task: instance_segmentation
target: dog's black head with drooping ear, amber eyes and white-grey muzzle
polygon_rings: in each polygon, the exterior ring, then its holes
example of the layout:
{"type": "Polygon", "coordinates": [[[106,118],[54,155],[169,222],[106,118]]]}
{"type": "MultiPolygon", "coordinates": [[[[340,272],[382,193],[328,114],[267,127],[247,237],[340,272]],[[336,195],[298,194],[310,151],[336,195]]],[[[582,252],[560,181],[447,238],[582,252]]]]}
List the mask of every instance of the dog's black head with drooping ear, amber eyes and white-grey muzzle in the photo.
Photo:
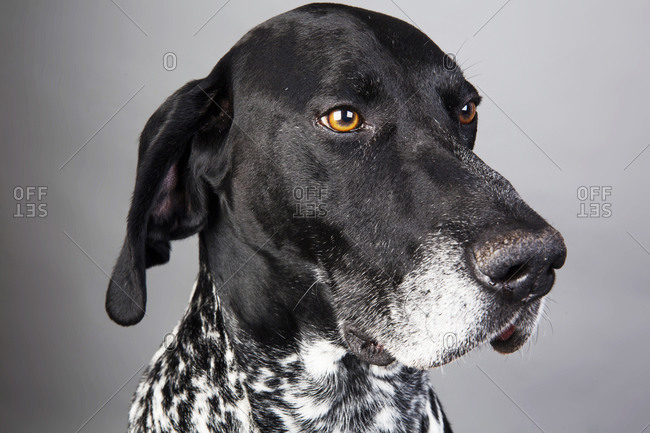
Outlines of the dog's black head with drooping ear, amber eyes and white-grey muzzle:
{"type": "MultiPolygon", "coordinates": [[[[316,4],[256,27],[147,123],[109,315],[142,318],[145,268],[171,240],[228,232],[252,251],[272,238],[259,254],[277,269],[307,263],[329,325],[369,362],[516,350],[566,251],[473,153],[479,102],[397,19],[316,4]]],[[[307,288],[285,280],[274,317],[307,288]]]]}

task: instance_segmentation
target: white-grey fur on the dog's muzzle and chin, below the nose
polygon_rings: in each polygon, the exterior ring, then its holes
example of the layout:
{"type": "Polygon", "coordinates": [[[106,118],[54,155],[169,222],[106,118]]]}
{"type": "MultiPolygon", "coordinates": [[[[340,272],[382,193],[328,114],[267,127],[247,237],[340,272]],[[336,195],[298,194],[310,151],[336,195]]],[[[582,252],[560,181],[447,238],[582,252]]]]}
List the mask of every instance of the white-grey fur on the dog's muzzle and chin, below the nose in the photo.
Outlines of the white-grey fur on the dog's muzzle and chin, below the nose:
{"type": "Polygon", "coordinates": [[[396,290],[390,329],[376,335],[400,363],[420,369],[447,364],[488,341],[511,353],[533,332],[542,301],[528,308],[500,305],[468,271],[462,246],[436,235],[421,247],[419,264],[396,290]],[[507,317],[504,317],[507,316],[507,317]],[[515,332],[504,341],[508,326],[515,332]]]}

